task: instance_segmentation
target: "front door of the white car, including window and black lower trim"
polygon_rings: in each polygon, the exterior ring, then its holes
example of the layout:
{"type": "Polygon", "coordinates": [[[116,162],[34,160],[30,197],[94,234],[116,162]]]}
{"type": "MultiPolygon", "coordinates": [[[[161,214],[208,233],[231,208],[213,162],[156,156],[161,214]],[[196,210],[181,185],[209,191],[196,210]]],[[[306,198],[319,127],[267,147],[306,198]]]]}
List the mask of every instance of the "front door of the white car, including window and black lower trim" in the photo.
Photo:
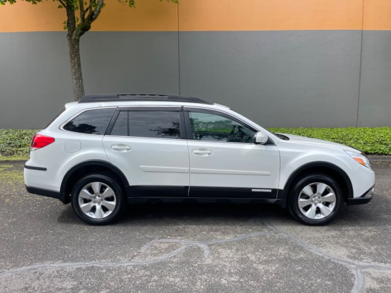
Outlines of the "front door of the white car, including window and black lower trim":
{"type": "Polygon", "coordinates": [[[185,107],[190,124],[190,196],[276,198],[280,155],[270,142],[254,144],[257,132],[235,117],[185,107]]]}

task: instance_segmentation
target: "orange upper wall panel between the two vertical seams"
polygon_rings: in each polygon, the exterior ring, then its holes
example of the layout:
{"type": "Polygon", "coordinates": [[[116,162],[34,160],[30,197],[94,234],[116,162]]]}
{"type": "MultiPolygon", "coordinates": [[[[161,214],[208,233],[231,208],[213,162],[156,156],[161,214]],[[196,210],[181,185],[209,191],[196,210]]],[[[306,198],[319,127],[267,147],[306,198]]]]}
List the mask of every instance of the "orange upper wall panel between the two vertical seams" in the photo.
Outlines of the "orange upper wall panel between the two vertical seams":
{"type": "Polygon", "coordinates": [[[362,8],[362,0],[179,0],[179,30],[358,30],[362,8]]]}

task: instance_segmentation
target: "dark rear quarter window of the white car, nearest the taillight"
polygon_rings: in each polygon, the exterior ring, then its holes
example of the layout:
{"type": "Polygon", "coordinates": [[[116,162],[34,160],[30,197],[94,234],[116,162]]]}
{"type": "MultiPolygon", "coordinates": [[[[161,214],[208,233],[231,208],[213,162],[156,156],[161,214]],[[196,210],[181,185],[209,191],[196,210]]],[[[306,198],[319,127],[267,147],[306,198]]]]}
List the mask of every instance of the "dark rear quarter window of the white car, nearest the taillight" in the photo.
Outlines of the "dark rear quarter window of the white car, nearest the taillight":
{"type": "Polygon", "coordinates": [[[63,128],[79,133],[105,134],[114,110],[115,108],[87,110],[69,121],[63,128]]]}

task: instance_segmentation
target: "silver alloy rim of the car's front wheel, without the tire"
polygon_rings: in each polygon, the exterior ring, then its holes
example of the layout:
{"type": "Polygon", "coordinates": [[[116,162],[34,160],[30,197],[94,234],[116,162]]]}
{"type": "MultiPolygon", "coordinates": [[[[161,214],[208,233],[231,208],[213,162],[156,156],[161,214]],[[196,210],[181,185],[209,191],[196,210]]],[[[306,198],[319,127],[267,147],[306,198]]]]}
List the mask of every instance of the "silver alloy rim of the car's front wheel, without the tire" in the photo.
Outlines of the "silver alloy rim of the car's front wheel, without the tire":
{"type": "Polygon", "coordinates": [[[297,204],[304,216],[318,220],[328,217],[335,209],[337,198],[326,183],[314,182],[300,191],[297,204]]]}

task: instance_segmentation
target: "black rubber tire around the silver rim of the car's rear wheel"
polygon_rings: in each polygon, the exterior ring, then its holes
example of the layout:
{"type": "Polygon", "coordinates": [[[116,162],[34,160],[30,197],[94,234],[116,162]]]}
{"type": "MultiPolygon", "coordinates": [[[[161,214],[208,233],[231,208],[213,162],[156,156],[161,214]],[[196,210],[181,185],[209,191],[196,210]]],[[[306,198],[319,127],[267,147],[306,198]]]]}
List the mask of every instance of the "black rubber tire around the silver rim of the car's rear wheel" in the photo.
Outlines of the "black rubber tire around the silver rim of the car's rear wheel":
{"type": "MultiPolygon", "coordinates": [[[[98,193],[94,193],[92,187],[86,188],[88,189],[94,196],[98,193]],[[89,189],[91,188],[91,189],[89,189]]],[[[109,190],[109,191],[111,191],[109,190]]],[[[96,196],[98,197],[98,196],[96,196]]],[[[121,214],[126,208],[126,198],[123,194],[122,188],[120,185],[115,181],[113,178],[109,176],[109,174],[89,174],[79,181],[76,182],[75,186],[72,188],[72,198],[71,198],[71,205],[76,214],[81,218],[83,221],[90,225],[108,225],[110,223],[113,223],[119,219],[121,214]],[[102,197],[99,195],[99,207],[98,207],[98,198],[96,199],[96,204],[95,204],[95,199],[84,199],[79,197],[80,192],[82,191],[83,188],[88,186],[91,183],[100,183],[99,189],[102,190],[99,191],[100,194],[102,194],[102,197]],[[106,202],[102,200],[104,198],[104,191],[106,191],[107,188],[111,188],[111,190],[114,192],[114,196],[108,197],[106,202]],[[100,199],[102,198],[102,199],[100,199]],[[92,202],[93,201],[93,202],[92,202]],[[90,209],[90,212],[88,212],[89,215],[84,212],[80,205],[83,204],[90,204],[91,206],[93,205],[90,209]],[[112,208],[115,206],[114,208],[112,208]],[[109,210],[107,207],[109,207],[112,210],[109,210]],[[105,213],[108,215],[104,214],[93,214],[97,213],[97,209],[102,209],[102,213],[105,213]],[[98,217],[98,218],[94,218],[98,217]],[[102,217],[100,217],[102,216],[102,217]]],[[[87,207],[89,209],[89,206],[87,207]]]]}

